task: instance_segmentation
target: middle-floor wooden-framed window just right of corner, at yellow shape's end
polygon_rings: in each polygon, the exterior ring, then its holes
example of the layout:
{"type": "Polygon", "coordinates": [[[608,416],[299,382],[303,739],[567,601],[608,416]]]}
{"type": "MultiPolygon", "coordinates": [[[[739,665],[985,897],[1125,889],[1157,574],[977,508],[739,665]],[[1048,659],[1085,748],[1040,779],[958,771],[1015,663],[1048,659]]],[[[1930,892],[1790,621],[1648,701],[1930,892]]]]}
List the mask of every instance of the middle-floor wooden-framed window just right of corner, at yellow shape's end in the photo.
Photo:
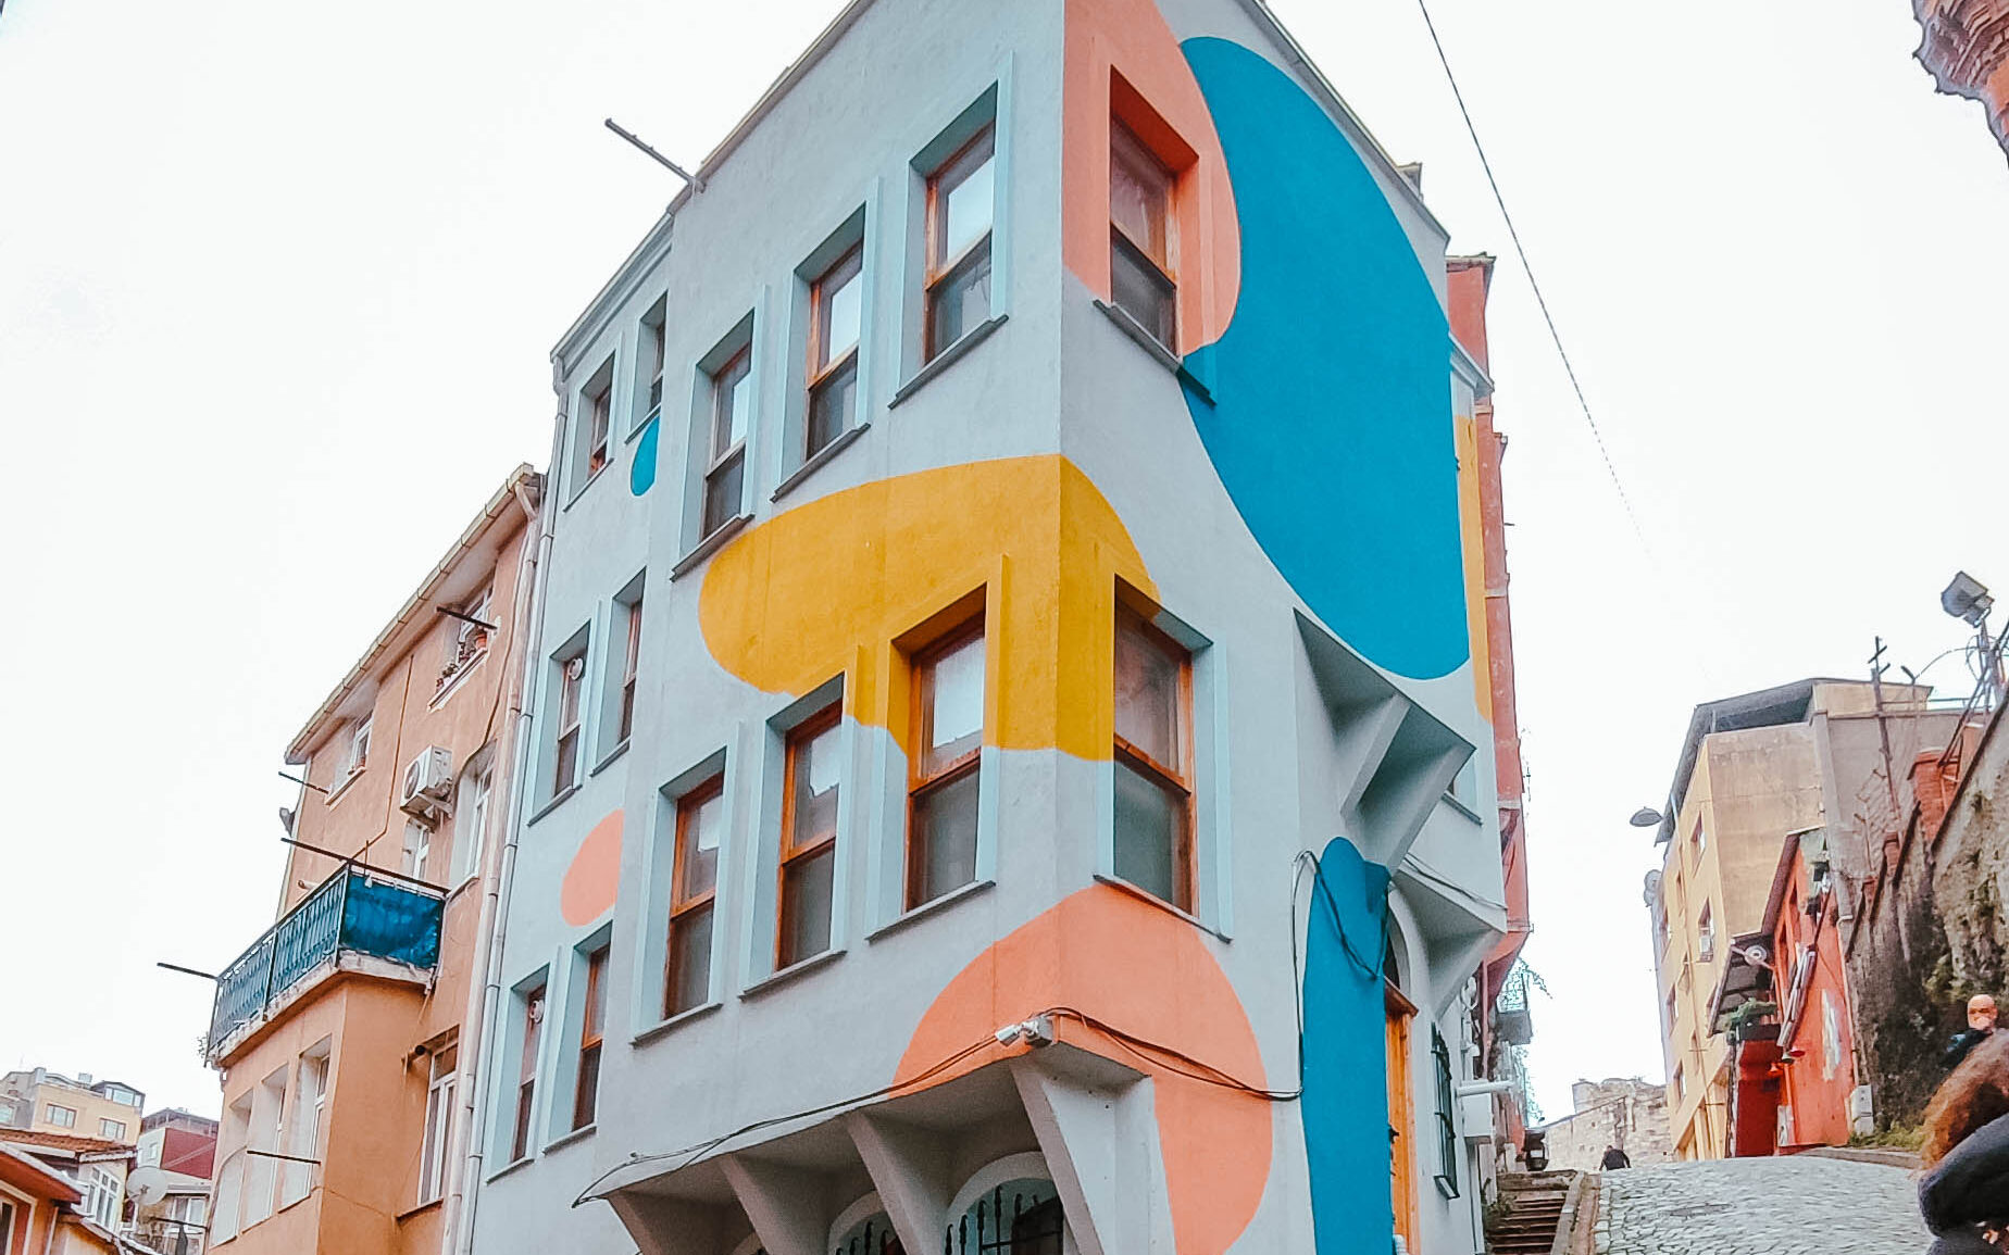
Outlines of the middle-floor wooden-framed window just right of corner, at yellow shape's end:
{"type": "Polygon", "coordinates": [[[1191,665],[1171,637],[1117,610],[1115,873],[1193,910],[1191,665]]]}

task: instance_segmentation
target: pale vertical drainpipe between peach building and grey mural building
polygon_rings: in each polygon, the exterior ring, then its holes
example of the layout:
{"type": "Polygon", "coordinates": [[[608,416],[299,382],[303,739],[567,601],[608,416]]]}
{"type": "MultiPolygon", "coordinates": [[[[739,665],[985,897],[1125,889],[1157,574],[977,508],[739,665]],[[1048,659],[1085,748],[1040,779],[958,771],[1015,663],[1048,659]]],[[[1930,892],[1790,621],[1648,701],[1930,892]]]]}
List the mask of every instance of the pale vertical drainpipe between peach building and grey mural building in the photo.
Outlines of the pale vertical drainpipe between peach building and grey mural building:
{"type": "MultiPolygon", "coordinates": [[[[552,365],[556,371],[556,363],[552,365]]],[[[556,384],[556,380],[554,380],[556,384]]],[[[516,564],[516,588],[520,606],[514,624],[516,641],[522,641],[522,665],[510,677],[516,685],[516,727],[510,735],[508,757],[508,805],[504,807],[502,819],[502,843],[500,849],[488,855],[490,863],[484,869],[482,884],[482,926],[476,932],[476,946],[480,938],[488,940],[486,952],[482,954],[480,968],[474,980],[468,982],[468,1010],[462,1018],[460,1028],[460,1126],[466,1131],[460,1181],[454,1185],[454,1193],[446,1201],[446,1243],[448,1249],[460,1251],[460,1255],[470,1255],[474,1249],[474,1209],[480,1203],[482,1189],[482,1143],[488,1135],[486,1120],[482,1114],[488,1104],[482,1102],[482,1066],[486,1058],[486,1042],[490,1028],[496,1020],[496,1008],[502,1000],[502,940],[508,928],[508,896],[510,884],[516,875],[516,831],[522,819],[522,797],[530,775],[530,745],[532,745],[532,725],[534,725],[534,685],[536,675],[536,651],[544,635],[544,570],[550,562],[550,536],[556,522],[556,510],[550,508],[550,476],[559,470],[559,450],[565,440],[565,406],[561,402],[559,414],[552,420],[550,434],[550,468],[544,474],[544,488],[540,500],[532,506],[522,488],[516,490],[516,502],[524,510],[524,522],[538,522],[536,544],[524,544],[522,558],[516,564]],[[524,584],[528,580],[528,584],[524,584]],[[522,588],[530,590],[530,596],[520,594],[522,588]]],[[[498,755],[500,757],[500,755],[498,755]]],[[[492,841],[484,841],[484,847],[494,847],[492,841]]],[[[444,1251],[442,1251],[444,1255],[444,1251]]]]}

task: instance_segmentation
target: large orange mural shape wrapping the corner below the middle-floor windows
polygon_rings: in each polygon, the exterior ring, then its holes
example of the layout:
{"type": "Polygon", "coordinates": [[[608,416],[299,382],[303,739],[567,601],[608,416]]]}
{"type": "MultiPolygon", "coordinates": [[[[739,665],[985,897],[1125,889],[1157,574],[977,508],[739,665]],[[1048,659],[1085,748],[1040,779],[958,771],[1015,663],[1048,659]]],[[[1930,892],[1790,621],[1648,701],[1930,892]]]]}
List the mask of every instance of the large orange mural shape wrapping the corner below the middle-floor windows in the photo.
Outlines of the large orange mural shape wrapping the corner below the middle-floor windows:
{"type": "MultiPolygon", "coordinates": [[[[1065,898],[956,974],[914,1028],[894,1080],[920,1078],[998,1024],[1051,1008],[1087,1012],[1246,1084],[1264,1084],[1256,1030],[1201,934],[1109,886],[1065,898]]],[[[1270,1102],[1183,1076],[1147,1050],[1133,1052],[1075,1020],[1063,1018],[1057,1028],[1069,1044],[1151,1074],[1175,1245],[1181,1255],[1227,1251],[1270,1181],[1270,1102]]],[[[926,1076],[924,1086],[1017,1052],[1023,1046],[990,1046],[926,1076]]]]}

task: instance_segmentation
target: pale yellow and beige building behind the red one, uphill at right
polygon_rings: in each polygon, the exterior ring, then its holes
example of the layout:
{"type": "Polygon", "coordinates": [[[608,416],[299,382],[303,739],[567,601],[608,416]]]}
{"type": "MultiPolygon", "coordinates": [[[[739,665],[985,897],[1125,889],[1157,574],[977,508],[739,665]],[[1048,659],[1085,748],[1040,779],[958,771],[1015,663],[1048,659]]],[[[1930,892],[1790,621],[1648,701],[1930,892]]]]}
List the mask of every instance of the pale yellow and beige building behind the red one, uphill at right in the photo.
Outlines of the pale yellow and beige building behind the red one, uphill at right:
{"type": "Polygon", "coordinates": [[[1766,932],[1780,843],[1820,827],[1836,877],[1860,884],[1868,833],[1884,831],[1901,805],[1892,775],[1959,721],[1929,695],[1882,685],[1878,701],[1868,683],[1808,679],[1696,707],[1659,829],[1661,867],[1647,875],[1680,1159],[1730,1151],[1736,1042],[1712,1006],[1732,942],[1766,932]]]}

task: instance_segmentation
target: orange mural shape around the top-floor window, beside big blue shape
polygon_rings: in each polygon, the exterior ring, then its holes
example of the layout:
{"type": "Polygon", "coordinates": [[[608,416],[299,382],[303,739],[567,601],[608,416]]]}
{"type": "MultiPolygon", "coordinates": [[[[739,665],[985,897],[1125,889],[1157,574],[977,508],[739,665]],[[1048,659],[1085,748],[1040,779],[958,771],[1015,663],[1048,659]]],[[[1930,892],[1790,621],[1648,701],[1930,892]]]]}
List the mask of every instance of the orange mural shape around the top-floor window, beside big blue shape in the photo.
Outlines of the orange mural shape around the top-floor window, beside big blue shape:
{"type": "Polygon", "coordinates": [[[1067,0],[1063,239],[1067,269],[1101,299],[1109,277],[1109,122],[1173,173],[1177,351],[1221,337],[1242,295],[1242,229],[1227,157],[1179,38],[1155,0],[1067,0]]]}

